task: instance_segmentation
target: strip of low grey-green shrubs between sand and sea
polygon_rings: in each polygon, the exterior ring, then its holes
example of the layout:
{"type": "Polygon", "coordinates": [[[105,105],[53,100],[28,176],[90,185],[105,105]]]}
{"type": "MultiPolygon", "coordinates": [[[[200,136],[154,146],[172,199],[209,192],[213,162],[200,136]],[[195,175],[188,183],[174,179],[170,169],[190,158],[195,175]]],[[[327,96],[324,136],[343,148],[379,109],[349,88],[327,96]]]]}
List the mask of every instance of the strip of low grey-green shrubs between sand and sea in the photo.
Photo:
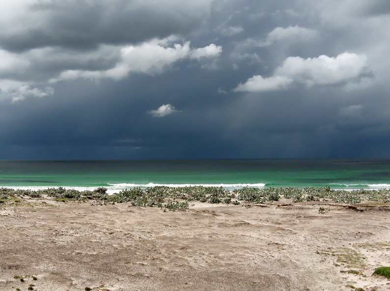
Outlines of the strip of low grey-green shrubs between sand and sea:
{"type": "MultiPolygon", "coordinates": [[[[39,198],[43,195],[54,197],[57,201],[95,201],[102,204],[129,203],[133,206],[152,207],[158,206],[165,211],[188,209],[190,202],[198,201],[211,204],[265,204],[279,201],[279,199],[291,199],[293,203],[305,201],[324,201],[342,204],[359,204],[362,201],[390,202],[390,189],[379,190],[334,190],[326,187],[306,188],[255,188],[243,187],[232,191],[223,187],[167,187],[154,186],[147,188],[134,187],[125,189],[119,193],[109,195],[107,188],[99,187],[94,191],[78,191],[63,187],[49,188],[45,190],[14,190],[0,188],[0,200],[7,200],[28,196],[39,198]]],[[[320,211],[322,212],[322,211],[320,211]]]]}

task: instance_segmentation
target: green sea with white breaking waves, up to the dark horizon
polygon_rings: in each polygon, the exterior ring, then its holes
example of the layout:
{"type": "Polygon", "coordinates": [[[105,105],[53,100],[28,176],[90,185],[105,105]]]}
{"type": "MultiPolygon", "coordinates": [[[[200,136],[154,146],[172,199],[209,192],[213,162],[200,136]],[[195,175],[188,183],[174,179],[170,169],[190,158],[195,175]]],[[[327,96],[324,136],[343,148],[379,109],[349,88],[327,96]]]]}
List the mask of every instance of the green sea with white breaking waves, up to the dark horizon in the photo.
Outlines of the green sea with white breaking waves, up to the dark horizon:
{"type": "Polygon", "coordinates": [[[0,161],[0,187],[223,186],[390,188],[389,159],[0,161]]]}

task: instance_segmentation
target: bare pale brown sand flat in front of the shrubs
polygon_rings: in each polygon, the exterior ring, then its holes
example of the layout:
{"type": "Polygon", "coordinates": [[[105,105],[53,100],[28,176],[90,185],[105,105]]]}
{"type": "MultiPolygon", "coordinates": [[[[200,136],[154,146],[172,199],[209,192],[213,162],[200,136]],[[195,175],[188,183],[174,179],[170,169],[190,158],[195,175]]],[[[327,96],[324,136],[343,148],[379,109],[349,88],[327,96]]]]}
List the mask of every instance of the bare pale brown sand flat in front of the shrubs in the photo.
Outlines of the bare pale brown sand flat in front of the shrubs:
{"type": "Polygon", "coordinates": [[[390,290],[388,205],[285,203],[0,205],[0,290],[390,290]]]}

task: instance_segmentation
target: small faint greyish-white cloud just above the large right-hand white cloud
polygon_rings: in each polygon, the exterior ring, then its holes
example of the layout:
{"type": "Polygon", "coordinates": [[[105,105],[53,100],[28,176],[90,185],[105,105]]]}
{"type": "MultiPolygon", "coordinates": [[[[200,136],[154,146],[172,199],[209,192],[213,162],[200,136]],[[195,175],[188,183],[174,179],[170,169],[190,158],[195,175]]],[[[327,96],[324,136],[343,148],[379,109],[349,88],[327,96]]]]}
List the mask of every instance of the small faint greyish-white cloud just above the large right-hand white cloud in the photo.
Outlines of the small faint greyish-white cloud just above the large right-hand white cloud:
{"type": "Polygon", "coordinates": [[[281,40],[308,40],[318,36],[318,32],[314,29],[306,29],[299,26],[289,26],[287,28],[277,27],[268,33],[267,38],[260,46],[270,46],[281,40]]]}

